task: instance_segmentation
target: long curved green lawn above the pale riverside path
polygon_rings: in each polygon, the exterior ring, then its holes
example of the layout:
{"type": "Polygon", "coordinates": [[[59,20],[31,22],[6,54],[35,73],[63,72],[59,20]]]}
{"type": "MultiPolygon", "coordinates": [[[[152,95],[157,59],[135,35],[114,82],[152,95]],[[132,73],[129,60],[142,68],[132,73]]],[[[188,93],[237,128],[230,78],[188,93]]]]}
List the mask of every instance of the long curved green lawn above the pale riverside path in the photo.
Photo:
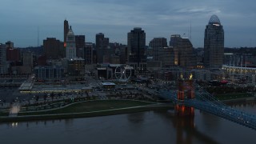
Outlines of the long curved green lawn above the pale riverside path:
{"type": "Polygon", "coordinates": [[[44,112],[30,112],[30,113],[18,113],[18,115],[42,115],[42,114],[69,114],[69,113],[81,113],[98,110],[113,110],[118,108],[132,107],[132,106],[144,106],[149,105],[150,102],[138,102],[130,100],[98,100],[75,103],[70,106],[66,106],[58,110],[50,110],[44,112]]]}

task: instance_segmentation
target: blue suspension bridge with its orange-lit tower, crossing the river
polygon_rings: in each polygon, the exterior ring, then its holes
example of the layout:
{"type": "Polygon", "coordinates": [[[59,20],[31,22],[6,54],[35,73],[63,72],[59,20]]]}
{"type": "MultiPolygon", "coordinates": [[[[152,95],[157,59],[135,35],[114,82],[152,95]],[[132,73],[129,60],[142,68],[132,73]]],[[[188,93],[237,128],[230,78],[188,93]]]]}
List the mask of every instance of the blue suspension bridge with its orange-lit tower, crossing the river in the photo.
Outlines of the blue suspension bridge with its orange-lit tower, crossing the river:
{"type": "Polygon", "coordinates": [[[194,116],[195,108],[256,130],[256,115],[227,106],[193,81],[179,81],[178,90],[160,90],[158,95],[174,102],[178,115],[194,116]]]}

